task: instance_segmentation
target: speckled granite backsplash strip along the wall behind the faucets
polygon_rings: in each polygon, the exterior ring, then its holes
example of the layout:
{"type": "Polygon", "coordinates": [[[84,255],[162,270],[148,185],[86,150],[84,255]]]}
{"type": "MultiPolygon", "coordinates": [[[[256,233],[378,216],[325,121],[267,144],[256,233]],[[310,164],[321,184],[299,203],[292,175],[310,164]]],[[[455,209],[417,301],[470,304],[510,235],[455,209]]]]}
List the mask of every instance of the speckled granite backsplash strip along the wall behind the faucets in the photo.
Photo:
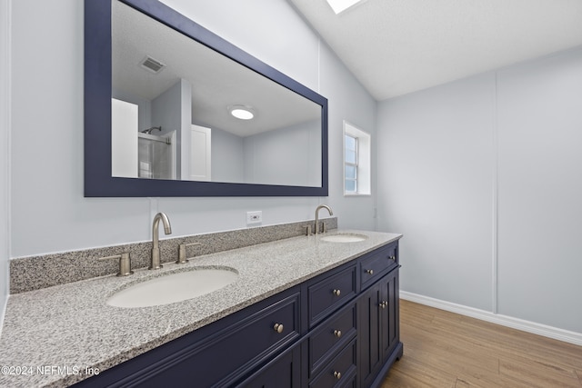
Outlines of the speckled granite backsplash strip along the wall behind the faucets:
{"type": "MultiPolygon", "coordinates": [[[[328,230],[337,228],[337,218],[322,219],[328,230]]],[[[188,256],[214,254],[243,246],[267,243],[306,234],[306,224],[315,220],[289,224],[259,226],[210,234],[172,237],[164,235],[160,228],[160,259],[172,263],[177,259],[178,245],[201,243],[188,247],[188,256]]],[[[10,293],[25,293],[57,284],[77,282],[107,274],[116,274],[119,264],[115,260],[99,261],[100,257],[129,253],[132,268],[149,266],[152,242],[123,244],[82,251],[44,254],[10,260],[10,293]]]]}

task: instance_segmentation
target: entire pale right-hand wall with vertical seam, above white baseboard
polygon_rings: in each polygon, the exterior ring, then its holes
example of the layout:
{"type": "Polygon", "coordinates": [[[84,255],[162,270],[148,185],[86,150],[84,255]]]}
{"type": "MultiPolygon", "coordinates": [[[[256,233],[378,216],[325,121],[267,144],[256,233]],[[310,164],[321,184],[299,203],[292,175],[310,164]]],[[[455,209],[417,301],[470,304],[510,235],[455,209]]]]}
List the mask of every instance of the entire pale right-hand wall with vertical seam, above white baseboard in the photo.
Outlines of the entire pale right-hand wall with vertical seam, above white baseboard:
{"type": "Polygon", "coordinates": [[[378,106],[401,289],[582,333],[582,49],[378,106]]]}

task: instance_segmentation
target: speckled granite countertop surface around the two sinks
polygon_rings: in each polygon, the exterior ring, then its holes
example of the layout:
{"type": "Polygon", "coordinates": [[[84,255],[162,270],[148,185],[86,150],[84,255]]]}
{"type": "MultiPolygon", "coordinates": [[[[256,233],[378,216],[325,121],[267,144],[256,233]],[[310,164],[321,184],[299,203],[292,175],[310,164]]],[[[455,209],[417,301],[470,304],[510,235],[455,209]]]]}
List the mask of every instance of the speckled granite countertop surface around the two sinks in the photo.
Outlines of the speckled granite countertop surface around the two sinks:
{"type": "Polygon", "coordinates": [[[230,313],[344,264],[401,234],[365,234],[355,243],[300,236],[135,270],[18,293],[8,298],[0,336],[0,386],[64,386],[84,380],[230,313]],[[227,287],[183,302],[120,308],[105,303],[128,284],[194,267],[228,267],[238,278],[227,287]]]}

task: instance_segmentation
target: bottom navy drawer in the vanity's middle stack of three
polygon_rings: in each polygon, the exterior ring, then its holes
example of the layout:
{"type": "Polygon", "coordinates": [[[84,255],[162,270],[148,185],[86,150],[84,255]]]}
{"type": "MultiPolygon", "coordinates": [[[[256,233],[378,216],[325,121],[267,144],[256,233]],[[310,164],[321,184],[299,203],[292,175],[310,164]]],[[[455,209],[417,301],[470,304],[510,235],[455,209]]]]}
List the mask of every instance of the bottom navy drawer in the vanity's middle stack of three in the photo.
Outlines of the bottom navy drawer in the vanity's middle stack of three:
{"type": "Polygon", "coordinates": [[[321,373],[309,383],[309,388],[331,388],[353,385],[356,374],[357,346],[356,339],[328,363],[321,373]]]}

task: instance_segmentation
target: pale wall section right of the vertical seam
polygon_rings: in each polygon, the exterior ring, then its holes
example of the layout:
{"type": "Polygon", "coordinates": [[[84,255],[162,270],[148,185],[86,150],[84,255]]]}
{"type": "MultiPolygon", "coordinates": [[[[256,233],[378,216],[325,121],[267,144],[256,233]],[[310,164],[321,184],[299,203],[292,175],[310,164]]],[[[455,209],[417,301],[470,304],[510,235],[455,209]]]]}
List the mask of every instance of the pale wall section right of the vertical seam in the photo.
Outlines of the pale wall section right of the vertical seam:
{"type": "Polygon", "coordinates": [[[582,333],[582,49],[497,75],[499,313],[582,333]]]}

